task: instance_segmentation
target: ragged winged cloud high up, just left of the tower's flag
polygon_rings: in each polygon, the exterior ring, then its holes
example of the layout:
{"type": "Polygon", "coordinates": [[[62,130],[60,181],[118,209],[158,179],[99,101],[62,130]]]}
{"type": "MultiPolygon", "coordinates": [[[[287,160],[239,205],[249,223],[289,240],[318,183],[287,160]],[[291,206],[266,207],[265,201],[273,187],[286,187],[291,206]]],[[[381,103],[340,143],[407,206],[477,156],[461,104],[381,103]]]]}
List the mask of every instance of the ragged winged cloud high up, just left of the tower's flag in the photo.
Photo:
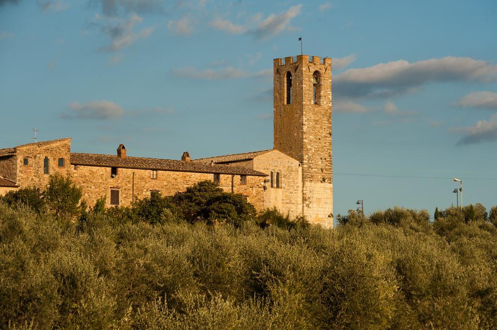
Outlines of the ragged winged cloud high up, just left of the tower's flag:
{"type": "Polygon", "coordinates": [[[209,22],[209,26],[230,34],[247,33],[257,39],[267,39],[284,30],[291,29],[290,20],[300,14],[301,8],[302,5],[298,4],[279,15],[271,13],[262,21],[262,14],[257,13],[250,17],[245,24],[236,24],[227,19],[216,18],[209,22]]]}

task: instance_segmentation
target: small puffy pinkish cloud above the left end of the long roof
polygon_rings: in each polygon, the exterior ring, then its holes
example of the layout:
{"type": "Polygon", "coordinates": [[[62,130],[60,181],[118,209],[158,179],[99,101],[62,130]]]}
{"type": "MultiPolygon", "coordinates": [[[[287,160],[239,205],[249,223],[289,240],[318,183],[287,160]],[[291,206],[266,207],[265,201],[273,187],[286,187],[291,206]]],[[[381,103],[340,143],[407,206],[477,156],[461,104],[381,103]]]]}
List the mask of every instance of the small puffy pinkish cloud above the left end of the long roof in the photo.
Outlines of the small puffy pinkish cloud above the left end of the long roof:
{"type": "Polygon", "coordinates": [[[113,119],[121,117],[124,113],[123,108],[107,100],[95,100],[85,104],[72,102],[69,107],[72,112],[64,115],[66,118],[113,119]]]}

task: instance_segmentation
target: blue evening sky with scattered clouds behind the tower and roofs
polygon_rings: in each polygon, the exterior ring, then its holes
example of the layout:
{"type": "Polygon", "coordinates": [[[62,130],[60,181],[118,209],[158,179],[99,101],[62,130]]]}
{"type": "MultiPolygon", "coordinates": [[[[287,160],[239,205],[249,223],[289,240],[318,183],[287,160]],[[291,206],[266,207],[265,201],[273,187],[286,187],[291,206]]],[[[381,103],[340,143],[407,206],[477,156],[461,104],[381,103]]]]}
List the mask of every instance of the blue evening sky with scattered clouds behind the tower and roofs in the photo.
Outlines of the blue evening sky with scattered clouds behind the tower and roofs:
{"type": "Polygon", "coordinates": [[[0,148],[272,147],[272,59],[333,58],[334,213],[497,204],[497,2],[0,0],[0,148]]]}

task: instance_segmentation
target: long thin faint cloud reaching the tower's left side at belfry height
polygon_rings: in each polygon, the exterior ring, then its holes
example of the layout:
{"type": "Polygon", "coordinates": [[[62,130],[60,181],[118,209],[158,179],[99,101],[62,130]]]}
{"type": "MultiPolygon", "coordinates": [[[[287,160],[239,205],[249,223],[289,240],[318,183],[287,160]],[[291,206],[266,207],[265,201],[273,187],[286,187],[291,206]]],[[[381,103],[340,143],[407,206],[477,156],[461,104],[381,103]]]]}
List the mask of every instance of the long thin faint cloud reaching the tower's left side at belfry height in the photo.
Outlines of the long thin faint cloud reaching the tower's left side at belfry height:
{"type": "Polygon", "coordinates": [[[178,69],[172,69],[171,74],[179,78],[200,79],[200,80],[219,80],[219,79],[234,79],[247,77],[265,77],[271,76],[273,70],[266,69],[257,72],[246,72],[242,69],[227,66],[220,69],[204,69],[198,70],[194,67],[187,66],[178,69]]]}

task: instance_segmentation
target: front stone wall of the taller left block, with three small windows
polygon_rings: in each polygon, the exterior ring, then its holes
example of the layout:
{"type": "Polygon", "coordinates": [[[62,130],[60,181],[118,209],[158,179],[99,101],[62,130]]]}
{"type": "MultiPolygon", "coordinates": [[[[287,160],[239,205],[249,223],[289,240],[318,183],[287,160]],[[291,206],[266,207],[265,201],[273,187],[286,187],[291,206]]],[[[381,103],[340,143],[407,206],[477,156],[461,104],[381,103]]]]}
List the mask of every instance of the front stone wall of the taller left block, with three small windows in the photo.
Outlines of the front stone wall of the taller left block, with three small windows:
{"type": "Polygon", "coordinates": [[[71,139],[63,139],[50,144],[28,144],[16,148],[17,185],[44,189],[50,174],[66,175],[71,172],[71,139]],[[23,165],[23,159],[28,165],[23,165]],[[43,173],[43,160],[49,159],[49,174],[43,173]],[[64,167],[58,167],[58,159],[64,158],[64,167]]]}

